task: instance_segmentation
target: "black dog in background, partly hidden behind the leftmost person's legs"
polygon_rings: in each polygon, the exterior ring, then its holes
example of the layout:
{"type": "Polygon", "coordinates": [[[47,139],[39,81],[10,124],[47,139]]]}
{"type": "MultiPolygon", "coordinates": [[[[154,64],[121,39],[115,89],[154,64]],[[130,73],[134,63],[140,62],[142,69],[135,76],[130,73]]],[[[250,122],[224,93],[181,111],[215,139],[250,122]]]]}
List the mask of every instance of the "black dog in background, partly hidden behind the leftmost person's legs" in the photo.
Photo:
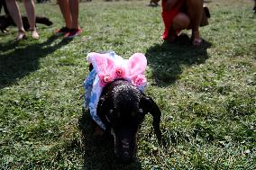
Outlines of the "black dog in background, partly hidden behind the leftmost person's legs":
{"type": "MultiPolygon", "coordinates": [[[[23,27],[24,27],[25,31],[28,31],[30,28],[30,23],[28,21],[28,18],[26,16],[22,16],[22,20],[23,20],[23,27]]],[[[50,20],[48,18],[41,17],[41,16],[36,16],[35,22],[45,24],[47,26],[52,25],[52,22],[50,22],[50,20]]],[[[15,23],[10,15],[1,15],[0,16],[0,30],[1,31],[5,32],[6,28],[11,25],[15,26],[15,23]]]]}

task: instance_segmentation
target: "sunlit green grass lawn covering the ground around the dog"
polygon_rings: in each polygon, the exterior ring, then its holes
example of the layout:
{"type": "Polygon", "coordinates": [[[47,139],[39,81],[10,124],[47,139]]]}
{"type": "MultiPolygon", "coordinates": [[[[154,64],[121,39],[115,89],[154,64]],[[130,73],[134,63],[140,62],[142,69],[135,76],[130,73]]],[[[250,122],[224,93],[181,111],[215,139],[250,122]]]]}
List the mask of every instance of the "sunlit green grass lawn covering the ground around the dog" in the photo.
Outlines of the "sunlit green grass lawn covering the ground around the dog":
{"type": "Polygon", "coordinates": [[[253,2],[207,1],[212,18],[200,30],[201,49],[189,45],[190,31],[163,43],[160,6],[148,4],[81,3],[84,32],[74,40],[52,37],[63,24],[55,2],[36,4],[54,22],[38,25],[39,40],[15,44],[14,27],[0,33],[0,169],[256,169],[253,2]],[[145,53],[145,93],[162,112],[167,146],[158,145],[147,116],[131,165],[116,163],[113,139],[92,135],[82,107],[87,53],[105,50],[145,53]]]}

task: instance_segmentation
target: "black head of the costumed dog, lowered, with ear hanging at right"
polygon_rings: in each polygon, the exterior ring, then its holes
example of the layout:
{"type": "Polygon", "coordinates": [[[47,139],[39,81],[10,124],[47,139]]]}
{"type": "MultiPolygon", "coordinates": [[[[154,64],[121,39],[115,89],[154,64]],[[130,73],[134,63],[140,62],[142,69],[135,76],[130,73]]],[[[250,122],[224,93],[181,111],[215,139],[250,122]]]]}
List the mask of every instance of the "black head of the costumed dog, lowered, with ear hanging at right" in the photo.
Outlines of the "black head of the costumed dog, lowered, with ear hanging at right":
{"type": "Polygon", "coordinates": [[[114,135],[114,153],[123,163],[135,157],[137,131],[145,114],[153,116],[153,127],[160,140],[160,109],[150,97],[126,80],[106,85],[97,106],[97,114],[106,130],[114,135]]]}

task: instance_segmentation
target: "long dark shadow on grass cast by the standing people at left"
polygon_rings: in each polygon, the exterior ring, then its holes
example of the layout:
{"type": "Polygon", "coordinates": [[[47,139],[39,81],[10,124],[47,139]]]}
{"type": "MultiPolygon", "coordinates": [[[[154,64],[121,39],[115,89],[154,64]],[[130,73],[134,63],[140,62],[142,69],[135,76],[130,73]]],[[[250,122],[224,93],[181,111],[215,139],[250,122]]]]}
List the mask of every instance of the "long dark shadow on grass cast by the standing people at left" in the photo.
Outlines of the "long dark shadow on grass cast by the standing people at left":
{"type": "Polygon", "coordinates": [[[51,36],[44,42],[35,42],[29,45],[26,45],[27,40],[0,44],[0,89],[14,85],[20,78],[37,70],[40,67],[40,58],[46,57],[70,42],[70,40],[63,39],[52,45],[57,38],[51,36]],[[10,52],[8,52],[9,50],[10,52]]]}

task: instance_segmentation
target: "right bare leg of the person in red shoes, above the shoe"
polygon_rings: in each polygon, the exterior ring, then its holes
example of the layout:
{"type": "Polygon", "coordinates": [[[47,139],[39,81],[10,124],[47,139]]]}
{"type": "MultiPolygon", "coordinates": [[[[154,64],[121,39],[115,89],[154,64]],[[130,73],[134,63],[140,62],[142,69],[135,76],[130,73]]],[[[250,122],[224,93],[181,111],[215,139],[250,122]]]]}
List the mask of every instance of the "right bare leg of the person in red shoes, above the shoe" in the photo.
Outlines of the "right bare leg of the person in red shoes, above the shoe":
{"type": "Polygon", "coordinates": [[[79,0],[69,0],[69,10],[72,17],[72,29],[78,29],[79,0]]]}

